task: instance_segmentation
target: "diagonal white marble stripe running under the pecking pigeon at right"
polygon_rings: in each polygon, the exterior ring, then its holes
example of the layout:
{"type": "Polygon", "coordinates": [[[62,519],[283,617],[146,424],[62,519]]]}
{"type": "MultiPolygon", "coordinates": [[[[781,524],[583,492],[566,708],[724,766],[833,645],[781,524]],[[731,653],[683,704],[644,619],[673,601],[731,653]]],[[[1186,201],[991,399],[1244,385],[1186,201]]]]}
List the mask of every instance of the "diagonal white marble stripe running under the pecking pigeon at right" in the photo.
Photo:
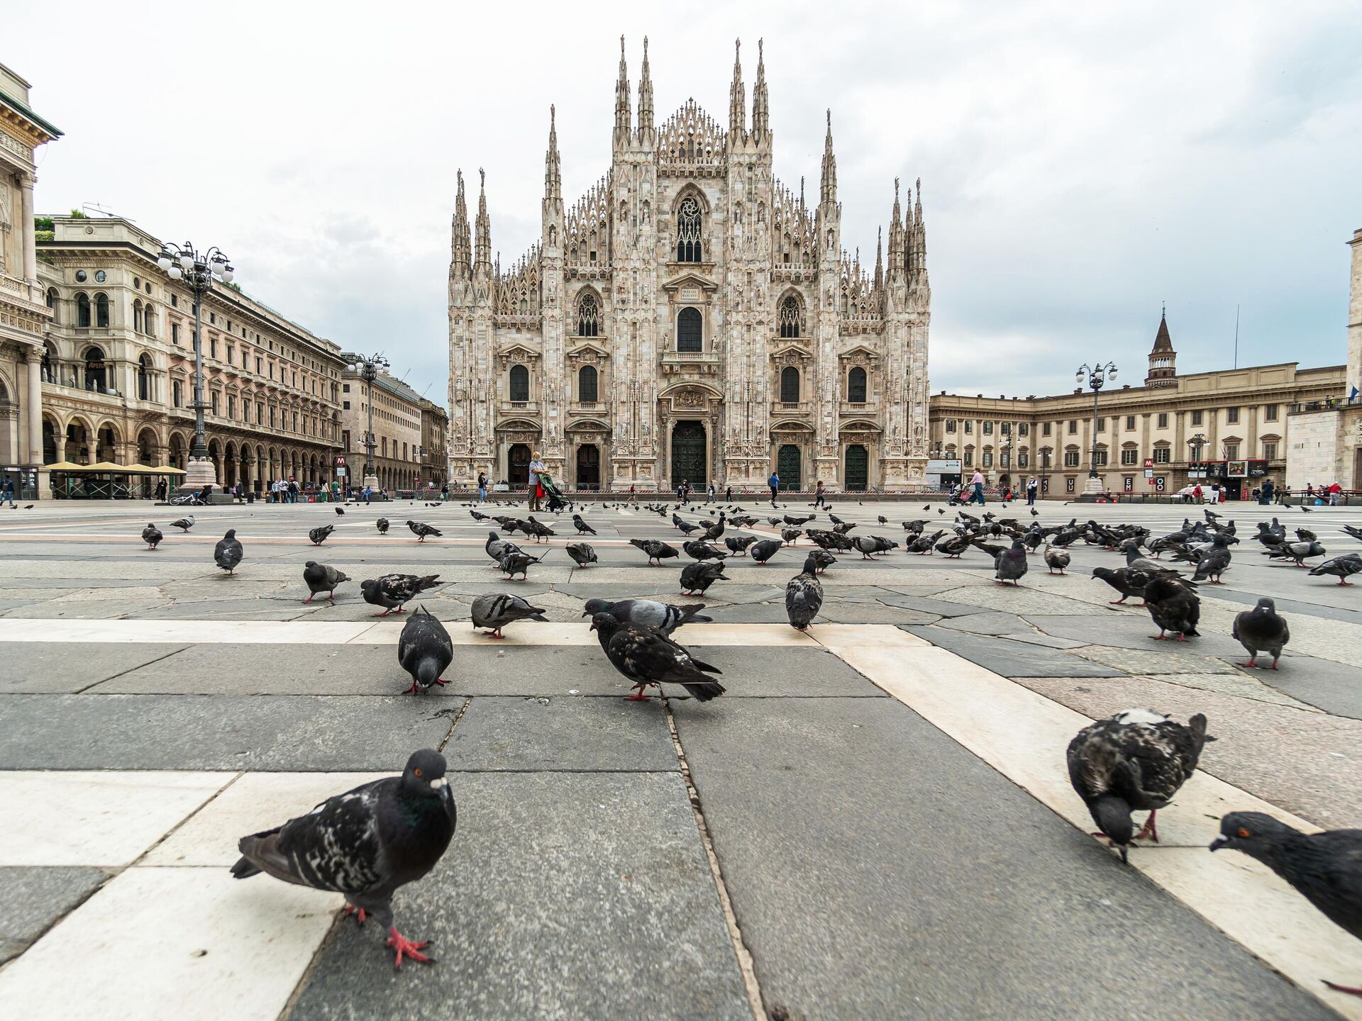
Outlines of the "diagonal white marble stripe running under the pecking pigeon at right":
{"type": "MultiPolygon", "coordinates": [[[[1090,722],[1087,716],[953,652],[899,641],[888,632],[874,643],[859,640],[851,629],[843,634],[816,629],[814,637],[1056,814],[1083,832],[1094,829],[1069,785],[1064,758],[1069,741],[1090,722]]],[[[1211,732],[1216,732],[1215,720],[1211,732]]],[[[1233,734],[1219,736],[1234,739],[1233,734]]],[[[1348,983],[1357,976],[1357,941],[1265,866],[1246,855],[1208,849],[1220,817],[1231,810],[1267,811],[1298,829],[1317,830],[1199,771],[1177,800],[1159,811],[1163,844],[1141,843],[1130,851],[1130,867],[1348,1021],[1362,1021],[1362,999],[1321,983],[1325,977],[1348,983]]]]}

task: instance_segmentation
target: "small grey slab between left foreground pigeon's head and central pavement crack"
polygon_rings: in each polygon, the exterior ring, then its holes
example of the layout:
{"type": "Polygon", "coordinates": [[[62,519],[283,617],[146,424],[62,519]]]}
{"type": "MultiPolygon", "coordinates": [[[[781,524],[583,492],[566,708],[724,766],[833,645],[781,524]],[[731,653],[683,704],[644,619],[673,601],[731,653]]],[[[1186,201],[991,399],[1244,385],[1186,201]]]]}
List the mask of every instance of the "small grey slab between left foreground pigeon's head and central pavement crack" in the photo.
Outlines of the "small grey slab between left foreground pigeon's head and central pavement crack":
{"type": "Polygon", "coordinates": [[[677,769],[656,700],[478,697],[445,746],[451,769],[648,772],[677,769]]]}

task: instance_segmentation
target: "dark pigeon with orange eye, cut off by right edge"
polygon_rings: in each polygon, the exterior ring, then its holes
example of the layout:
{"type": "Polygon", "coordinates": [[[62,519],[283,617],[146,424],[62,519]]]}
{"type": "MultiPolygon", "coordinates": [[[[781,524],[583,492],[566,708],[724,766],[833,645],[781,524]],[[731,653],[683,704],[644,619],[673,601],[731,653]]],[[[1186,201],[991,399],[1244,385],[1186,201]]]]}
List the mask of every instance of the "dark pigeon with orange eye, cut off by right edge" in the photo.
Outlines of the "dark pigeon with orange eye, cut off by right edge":
{"type": "MultiPolygon", "coordinates": [[[[1263,862],[1329,922],[1362,939],[1362,829],[1301,833],[1261,811],[1231,811],[1211,841],[1212,851],[1224,848],[1263,862]]],[[[1362,987],[1324,984],[1362,996],[1362,987]]]]}

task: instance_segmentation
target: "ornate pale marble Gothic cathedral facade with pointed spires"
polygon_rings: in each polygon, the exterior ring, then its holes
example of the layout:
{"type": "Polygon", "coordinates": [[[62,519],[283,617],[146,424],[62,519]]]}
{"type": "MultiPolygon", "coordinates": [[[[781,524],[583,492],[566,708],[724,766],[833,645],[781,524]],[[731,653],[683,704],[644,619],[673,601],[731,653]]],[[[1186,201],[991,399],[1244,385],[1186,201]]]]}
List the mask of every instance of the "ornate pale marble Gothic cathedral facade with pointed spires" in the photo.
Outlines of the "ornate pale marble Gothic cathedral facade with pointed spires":
{"type": "MultiPolygon", "coordinates": [[[[539,241],[492,259],[486,178],[459,174],[449,261],[449,476],[522,486],[530,456],[576,489],[906,490],[928,456],[930,287],[921,185],[893,187],[874,268],[843,248],[832,123],[817,204],[772,167],[759,54],[746,116],[637,116],[620,44],[609,172],[563,200],[550,109],[539,241]]],[[[481,174],[482,172],[479,172],[481,174]]]]}

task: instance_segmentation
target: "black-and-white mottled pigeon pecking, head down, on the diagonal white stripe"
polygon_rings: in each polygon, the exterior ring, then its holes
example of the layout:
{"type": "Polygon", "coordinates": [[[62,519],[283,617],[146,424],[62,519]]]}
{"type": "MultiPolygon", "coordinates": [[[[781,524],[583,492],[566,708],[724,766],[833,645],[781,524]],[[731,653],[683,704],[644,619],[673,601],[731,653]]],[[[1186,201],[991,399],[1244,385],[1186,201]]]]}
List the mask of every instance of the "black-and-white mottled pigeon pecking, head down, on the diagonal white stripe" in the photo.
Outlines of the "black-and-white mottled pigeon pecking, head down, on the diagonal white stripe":
{"type": "Polygon", "coordinates": [[[1080,730],[1066,751],[1069,783],[1098,824],[1094,836],[1120,847],[1122,862],[1132,839],[1158,843],[1154,815],[1192,776],[1208,741],[1215,738],[1201,713],[1182,726],[1154,709],[1124,709],[1080,730]],[[1150,818],[1132,837],[1135,810],[1148,810],[1150,818]]]}

